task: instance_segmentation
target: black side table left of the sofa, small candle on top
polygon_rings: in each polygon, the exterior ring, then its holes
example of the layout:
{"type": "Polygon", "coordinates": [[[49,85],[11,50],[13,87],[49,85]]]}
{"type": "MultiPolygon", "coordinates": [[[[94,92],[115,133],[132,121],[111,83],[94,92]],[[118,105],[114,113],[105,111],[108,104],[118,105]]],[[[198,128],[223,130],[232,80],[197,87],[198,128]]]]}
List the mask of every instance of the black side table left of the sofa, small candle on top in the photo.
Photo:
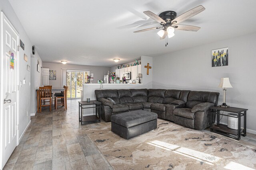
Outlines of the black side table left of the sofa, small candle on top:
{"type": "Polygon", "coordinates": [[[100,122],[100,113],[98,113],[98,109],[100,110],[100,102],[97,102],[96,100],[91,100],[90,102],[86,101],[80,101],[79,104],[79,122],[81,122],[81,125],[91,124],[91,123],[99,123],[100,122]],[[82,107],[82,106],[88,106],[88,105],[95,105],[92,107],[82,107]],[[95,108],[95,115],[90,116],[82,116],[82,109],[89,109],[89,108],[95,108]]]}

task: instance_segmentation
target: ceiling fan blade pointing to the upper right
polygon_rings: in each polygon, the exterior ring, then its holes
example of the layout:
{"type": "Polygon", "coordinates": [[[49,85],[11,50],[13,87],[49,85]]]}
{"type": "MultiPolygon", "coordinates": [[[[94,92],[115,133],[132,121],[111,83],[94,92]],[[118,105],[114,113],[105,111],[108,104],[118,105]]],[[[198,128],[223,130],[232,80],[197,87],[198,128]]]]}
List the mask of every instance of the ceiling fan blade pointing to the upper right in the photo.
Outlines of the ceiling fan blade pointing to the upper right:
{"type": "Polygon", "coordinates": [[[196,8],[193,8],[193,9],[183,13],[180,16],[178,16],[177,18],[175,18],[174,20],[172,20],[172,24],[176,24],[176,23],[180,23],[182,21],[188,20],[188,18],[191,18],[204,10],[205,10],[205,8],[202,5],[197,6],[196,8]]]}

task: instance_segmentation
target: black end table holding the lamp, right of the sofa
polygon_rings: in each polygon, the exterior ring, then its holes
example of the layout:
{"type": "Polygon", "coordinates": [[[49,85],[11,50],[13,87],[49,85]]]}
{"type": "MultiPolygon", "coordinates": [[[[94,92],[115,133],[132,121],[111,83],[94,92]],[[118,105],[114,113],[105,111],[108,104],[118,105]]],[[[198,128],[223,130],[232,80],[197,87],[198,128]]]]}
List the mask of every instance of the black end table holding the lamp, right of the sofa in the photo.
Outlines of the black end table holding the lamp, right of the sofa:
{"type": "Polygon", "coordinates": [[[212,109],[210,116],[211,120],[213,120],[213,117],[217,115],[217,124],[213,125],[213,122],[211,121],[211,132],[218,133],[220,135],[224,135],[236,140],[241,139],[241,134],[245,137],[246,136],[246,111],[248,109],[242,109],[237,107],[210,107],[212,109]],[[228,113],[220,113],[220,111],[230,112],[230,113],[236,113],[236,115],[228,115],[228,113]],[[243,113],[242,113],[243,112],[243,113]],[[236,129],[230,129],[227,125],[220,124],[220,115],[222,116],[228,116],[228,117],[235,117],[238,118],[238,130],[236,129]],[[244,128],[241,129],[241,117],[244,117],[244,128]],[[234,136],[236,137],[234,137],[234,136]]]}

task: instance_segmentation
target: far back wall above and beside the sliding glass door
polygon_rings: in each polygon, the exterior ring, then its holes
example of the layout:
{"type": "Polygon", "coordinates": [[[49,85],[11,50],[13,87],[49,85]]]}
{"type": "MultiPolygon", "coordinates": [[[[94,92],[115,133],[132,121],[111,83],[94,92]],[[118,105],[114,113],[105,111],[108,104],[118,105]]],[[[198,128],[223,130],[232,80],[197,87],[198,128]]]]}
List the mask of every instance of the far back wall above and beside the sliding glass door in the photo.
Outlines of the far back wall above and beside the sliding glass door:
{"type": "Polygon", "coordinates": [[[43,68],[49,68],[50,70],[56,70],[56,80],[49,80],[49,85],[53,87],[61,87],[61,68],[73,68],[73,69],[88,69],[90,73],[94,74],[92,83],[97,83],[97,80],[104,80],[104,75],[108,74],[110,67],[104,66],[86,66],[75,64],[57,64],[57,63],[43,63],[43,68]]]}

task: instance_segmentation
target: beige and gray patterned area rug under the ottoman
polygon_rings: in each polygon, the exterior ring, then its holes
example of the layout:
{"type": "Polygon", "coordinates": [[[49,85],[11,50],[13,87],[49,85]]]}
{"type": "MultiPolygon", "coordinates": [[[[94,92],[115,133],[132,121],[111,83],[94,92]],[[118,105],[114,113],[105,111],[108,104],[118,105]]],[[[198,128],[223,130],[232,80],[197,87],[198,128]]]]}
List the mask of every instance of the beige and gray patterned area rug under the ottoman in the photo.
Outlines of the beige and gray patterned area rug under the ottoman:
{"type": "Polygon", "coordinates": [[[158,127],[126,140],[111,125],[86,133],[116,170],[254,169],[256,150],[158,119],[158,127]]]}

